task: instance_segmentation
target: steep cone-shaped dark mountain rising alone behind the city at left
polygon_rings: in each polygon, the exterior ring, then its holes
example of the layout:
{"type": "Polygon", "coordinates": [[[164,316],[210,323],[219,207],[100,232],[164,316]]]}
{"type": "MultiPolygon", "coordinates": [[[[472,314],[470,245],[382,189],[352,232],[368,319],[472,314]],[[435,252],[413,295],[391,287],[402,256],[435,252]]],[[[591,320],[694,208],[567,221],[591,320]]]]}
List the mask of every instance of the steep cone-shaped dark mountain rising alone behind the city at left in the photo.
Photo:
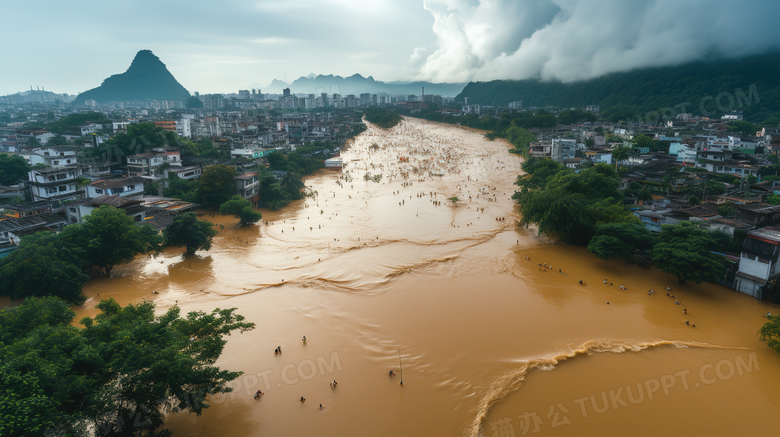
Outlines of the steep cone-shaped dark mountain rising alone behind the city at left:
{"type": "Polygon", "coordinates": [[[141,50],[135,55],[127,71],[115,74],[104,80],[99,87],[79,94],[74,103],[84,103],[88,99],[105,103],[184,100],[188,97],[189,91],[176,81],[160,58],[151,50],[141,50]]]}

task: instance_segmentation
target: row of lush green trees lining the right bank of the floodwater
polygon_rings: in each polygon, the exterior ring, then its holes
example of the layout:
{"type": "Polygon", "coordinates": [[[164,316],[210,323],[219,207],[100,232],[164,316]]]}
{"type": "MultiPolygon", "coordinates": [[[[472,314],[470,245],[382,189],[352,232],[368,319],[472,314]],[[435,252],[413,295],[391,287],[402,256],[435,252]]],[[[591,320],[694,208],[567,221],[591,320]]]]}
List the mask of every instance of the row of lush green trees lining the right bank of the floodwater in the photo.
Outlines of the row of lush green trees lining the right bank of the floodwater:
{"type": "Polygon", "coordinates": [[[709,232],[693,223],[665,225],[651,236],[641,221],[624,206],[617,171],[598,164],[579,173],[549,159],[523,163],[525,174],[516,184],[521,225],[536,225],[539,232],[569,244],[587,246],[602,259],[631,261],[636,252],[649,251],[662,271],[680,282],[717,281],[726,273],[726,261],[713,252],[739,248],[722,232],[709,232]]]}

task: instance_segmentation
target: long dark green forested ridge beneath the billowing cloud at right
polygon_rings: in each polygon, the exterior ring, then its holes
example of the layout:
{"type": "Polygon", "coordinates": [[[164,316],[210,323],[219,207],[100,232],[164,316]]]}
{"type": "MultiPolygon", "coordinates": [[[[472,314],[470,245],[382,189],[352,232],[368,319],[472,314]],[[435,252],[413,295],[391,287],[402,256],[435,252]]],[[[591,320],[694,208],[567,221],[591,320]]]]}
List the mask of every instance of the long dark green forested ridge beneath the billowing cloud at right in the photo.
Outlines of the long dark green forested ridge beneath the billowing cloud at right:
{"type": "Polygon", "coordinates": [[[463,102],[466,97],[469,104],[499,106],[522,100],[524,108],[599,105],[602,116],[610,121],[676,107],[675,113],[697,115],[740,110],[746,119],[760,122],[780,113],[780,53],[647,68],[574,83],[538,79],[471,82],[456,100],[463,102]],[[740,98],[740,93],[748,99],[740,98]],[[716,104],[719,95],[720,104],[716,104]]]}

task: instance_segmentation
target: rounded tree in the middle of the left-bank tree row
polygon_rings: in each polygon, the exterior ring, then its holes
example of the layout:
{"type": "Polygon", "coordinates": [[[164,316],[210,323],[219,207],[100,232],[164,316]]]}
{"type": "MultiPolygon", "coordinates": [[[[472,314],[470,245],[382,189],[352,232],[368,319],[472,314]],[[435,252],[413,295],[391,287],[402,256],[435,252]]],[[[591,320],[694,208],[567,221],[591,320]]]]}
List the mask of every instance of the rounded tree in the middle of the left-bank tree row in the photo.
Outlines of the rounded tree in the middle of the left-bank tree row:
{"type": "MultiPolygon", "coordinates": [[[[156,233],[142,232],[132,217],[123,210],[103,205],[95,208],[84,218],[84,224],[74,231],[82,234],[86,245],[86,259],[90,264],[101,266],[106,275],[116,264],[132,261],[139,253],[146,253],[157,247],[157,241],[149,241],[156,233]]],[[[149,225],[144,225],[149,226],[149,225]]],[[[76,237],[78,238],[78,237],[76,237]]]]}

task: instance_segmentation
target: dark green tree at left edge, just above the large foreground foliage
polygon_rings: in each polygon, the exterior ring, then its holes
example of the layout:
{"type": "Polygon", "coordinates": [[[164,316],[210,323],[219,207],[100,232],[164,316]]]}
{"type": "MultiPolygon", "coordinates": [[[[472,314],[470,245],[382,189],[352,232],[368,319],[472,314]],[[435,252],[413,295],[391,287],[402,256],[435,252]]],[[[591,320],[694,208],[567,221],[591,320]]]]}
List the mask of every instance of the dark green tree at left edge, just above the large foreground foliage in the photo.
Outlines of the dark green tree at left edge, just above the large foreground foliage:
{"type": "Polygon", "coordinates": [[[79,255],[49,232],[24,237],[19,248],[0,262],[0,296],[11,300],[57,296],[83,304],[82,287],[89,276],[81,271],[79,255]]]}

